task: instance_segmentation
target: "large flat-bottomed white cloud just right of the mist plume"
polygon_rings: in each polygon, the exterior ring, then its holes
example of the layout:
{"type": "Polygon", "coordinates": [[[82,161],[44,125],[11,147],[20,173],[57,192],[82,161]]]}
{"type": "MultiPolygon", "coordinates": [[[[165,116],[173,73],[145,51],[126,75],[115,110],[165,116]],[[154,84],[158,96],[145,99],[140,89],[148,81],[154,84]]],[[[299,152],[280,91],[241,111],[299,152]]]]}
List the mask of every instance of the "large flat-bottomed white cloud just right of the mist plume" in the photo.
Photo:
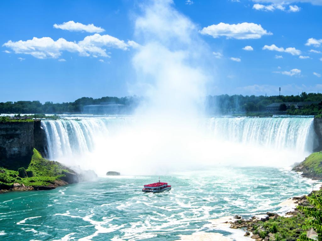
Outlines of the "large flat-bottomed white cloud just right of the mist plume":
{"type": "Polygon", "coordinates": [[[230,39],[260,39],[263,35],[272,35],[266,31],[260,24],[243,22],[238,24],[219,23],[204,27],[202,34],[208,34],[213,38],[225,36],[230,39]]]}

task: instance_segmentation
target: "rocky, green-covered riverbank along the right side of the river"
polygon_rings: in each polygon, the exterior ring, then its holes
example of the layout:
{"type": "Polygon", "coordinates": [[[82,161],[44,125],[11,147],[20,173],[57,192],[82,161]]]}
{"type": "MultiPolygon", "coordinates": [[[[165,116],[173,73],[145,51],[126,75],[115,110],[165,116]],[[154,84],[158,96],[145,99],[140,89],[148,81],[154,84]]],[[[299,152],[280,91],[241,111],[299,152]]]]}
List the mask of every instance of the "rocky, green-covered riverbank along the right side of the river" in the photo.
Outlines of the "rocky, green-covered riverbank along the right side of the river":
{"type": "MultiPolygon", "coordinates": [[[[321,180],[322,152],[312,153],[292,170],[301,172],[302,176],[312,180],[321,180]]],[[[322,187],[310,192],[308,195],[293,197],[292,199],[282,202],[280,206],[288,206],[291,209],[291,211],[288,211],[285,214],[267,212],[264,215],[253,216],[250,219],[243,219],[241,216],[237,215],[231,220],[225,220],[225,223],[229,224],[232,229],[243,230],[244,237],[250,237],[256,241],[296,241],[300,235],[313,237],[315,235],[313,229],[302,229],[302,226],[307,225],[311,219],[297,209],[297,206],[310,205],[306,196],[310,196],[312,193],[317,197],[321,197],[322,187]]],[[[212,221],[210,220],[210,222],[212,221]]]]}

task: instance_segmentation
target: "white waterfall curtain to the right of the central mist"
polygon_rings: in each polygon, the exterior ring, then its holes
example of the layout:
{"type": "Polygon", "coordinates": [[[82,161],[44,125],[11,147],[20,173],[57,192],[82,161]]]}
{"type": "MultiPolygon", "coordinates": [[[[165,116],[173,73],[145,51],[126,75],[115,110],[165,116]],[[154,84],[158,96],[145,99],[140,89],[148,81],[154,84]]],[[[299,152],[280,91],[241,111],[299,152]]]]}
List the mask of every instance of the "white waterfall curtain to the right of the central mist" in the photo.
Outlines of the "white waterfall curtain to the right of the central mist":
{"type": "Polygon", "coordinates": [[[275,149],[312,152],[315,144],[313,118],[306,117],[210,118],[207,129],[223,140],[275,149]]]}

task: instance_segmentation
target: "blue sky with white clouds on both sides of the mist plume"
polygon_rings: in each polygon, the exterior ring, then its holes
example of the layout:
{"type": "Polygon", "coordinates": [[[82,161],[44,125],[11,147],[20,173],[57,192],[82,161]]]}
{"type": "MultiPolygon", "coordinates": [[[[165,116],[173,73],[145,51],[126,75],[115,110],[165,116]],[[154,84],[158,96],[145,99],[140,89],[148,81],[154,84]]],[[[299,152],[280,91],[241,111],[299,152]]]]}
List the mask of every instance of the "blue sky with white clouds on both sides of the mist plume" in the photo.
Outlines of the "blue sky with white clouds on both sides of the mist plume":
{"type": "MultiPolygon", "coordinates": [[[[141,94],[130,86],[140,78],[133,58],[144,40],[135,26],[145,4],[1,2],[0,101],[141,94]]],[[[206,45],[206,94],[322,92],[322,0],[168,4],[206,45]]]]}

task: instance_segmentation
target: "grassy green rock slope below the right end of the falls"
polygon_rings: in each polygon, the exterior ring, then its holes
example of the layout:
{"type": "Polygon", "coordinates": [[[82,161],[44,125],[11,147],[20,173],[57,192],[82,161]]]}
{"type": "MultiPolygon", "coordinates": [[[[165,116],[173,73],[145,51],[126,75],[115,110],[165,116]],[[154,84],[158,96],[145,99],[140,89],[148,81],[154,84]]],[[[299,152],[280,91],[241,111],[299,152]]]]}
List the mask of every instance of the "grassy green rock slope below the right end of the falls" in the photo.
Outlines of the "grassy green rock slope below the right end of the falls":
{"type": "Polygon", "coordinates": [[[305,177],[322,180],[322,152],[312,153],[293,170],[303,172],[302,175],[305,177]]]}

